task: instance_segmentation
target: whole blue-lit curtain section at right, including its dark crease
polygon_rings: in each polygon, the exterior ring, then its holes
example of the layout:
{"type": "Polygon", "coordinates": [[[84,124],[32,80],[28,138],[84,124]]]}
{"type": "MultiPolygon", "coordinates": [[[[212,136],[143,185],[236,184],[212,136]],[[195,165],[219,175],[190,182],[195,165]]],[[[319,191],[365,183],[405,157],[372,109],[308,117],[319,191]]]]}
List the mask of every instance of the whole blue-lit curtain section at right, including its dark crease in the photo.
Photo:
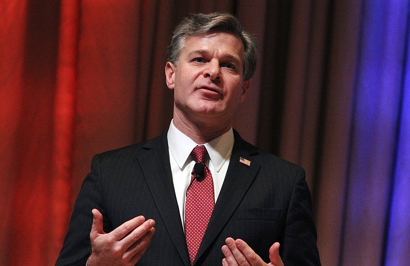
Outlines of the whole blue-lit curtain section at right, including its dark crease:
{"type": "Polygon", "coordinates": [[[364,1],[340,265],[410,261],[408,1],[364,1]]]}

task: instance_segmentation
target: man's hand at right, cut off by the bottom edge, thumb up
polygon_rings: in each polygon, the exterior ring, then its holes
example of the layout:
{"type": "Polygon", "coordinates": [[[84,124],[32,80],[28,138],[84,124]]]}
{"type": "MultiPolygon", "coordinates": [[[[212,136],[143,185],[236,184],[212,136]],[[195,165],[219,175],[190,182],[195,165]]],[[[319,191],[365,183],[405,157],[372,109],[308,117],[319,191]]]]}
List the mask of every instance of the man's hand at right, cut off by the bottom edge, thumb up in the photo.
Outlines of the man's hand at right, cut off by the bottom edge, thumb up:
{"type": "Polygon", "coordinates": [[[275,242],[269,249],[269,259],[271,262],[267,264],[249,247],[245,241],[241,239],[234,240],[231,237],[228,237],[225,241],[227,244],[222,247],[222,252],[225,256],[225,258],[222,259],[223,266],[283,266],[282,259],[279,256],[278,242],[275,242]]]}

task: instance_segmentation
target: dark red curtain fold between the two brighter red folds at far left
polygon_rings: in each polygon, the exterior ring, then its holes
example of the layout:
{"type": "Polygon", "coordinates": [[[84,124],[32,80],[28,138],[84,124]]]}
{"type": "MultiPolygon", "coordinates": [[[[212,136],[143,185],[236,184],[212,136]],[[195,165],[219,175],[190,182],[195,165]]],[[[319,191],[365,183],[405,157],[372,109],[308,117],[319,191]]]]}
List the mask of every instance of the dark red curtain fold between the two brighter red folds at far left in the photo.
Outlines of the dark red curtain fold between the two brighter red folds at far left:
{"type": "MultiPolygon", "coordinates": [[[[48,256],[51,248],[48,237],[50,221],[54,219],[49,202],[52,200],[50,177],[53,176],[51,154],[59,8],[59,3],[54,1],[28,2],[23,18],[26,24],[20,25],[25,30],[19,80],[22,85],[18,99],[20,112],[15,117],[15,128],[11,129],[14,133],[10,137],[15,145],[7,151],[14,154],[11,163],[15,176],[1,175],[2,179],[13,180],[8,187],[11,215],[6,227],[9,237],[5,241],[9,249],[6,261],[10,265],[46,265],[52,259],[48,256]]],[[[13,60],[10,59],[6,68],[11,67],[13,60]]],[[[5,105],[10,104],[13,103],[5,105]]]]}

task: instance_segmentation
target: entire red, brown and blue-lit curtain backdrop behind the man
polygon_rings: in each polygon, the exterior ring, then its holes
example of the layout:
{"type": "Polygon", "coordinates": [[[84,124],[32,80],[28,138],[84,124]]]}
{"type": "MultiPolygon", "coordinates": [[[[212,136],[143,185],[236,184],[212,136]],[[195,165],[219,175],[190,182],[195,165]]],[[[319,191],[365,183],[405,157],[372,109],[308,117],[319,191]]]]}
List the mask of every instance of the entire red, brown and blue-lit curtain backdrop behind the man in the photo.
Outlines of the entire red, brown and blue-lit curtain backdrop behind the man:
{"type": "Polygon", "coordinates": [[[168,39],[181,17],[211,11],[259,41],[235,128],[306,169],[322,264],[408,265],[401,0],[2,1],[0,264],[53,265],[92,155],[168,128],[168,39]]]}

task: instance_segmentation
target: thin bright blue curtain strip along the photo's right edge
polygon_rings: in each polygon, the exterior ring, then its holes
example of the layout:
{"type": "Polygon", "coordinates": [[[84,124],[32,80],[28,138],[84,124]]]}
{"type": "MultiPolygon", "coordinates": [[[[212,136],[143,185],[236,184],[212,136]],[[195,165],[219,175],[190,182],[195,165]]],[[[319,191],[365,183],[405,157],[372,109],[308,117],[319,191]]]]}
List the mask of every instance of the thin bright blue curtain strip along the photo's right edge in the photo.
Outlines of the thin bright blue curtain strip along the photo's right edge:
{"type": "MultiPolygon", "coordinates": [[[[400,86],[399,119],[397,122],[396,161],[393,171],[392,197],[385,265],[405,265],[410,261],[410,11],[403,8],[407,23],[405,51],[400,86]]],[[[404,28],[404,27],[402,27],[404,28]]]]}

